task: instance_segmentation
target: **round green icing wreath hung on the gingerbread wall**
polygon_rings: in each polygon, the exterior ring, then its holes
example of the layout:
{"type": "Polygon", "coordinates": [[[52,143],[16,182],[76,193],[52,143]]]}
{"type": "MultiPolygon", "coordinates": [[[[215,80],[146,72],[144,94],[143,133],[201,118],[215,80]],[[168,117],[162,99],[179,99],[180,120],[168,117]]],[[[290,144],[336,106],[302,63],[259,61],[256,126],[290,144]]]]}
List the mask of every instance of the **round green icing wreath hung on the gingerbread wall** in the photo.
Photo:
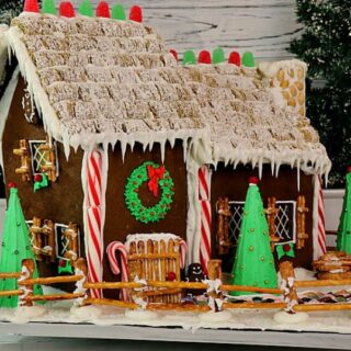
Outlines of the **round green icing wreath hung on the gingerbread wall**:
{"type": "Polygon", "coordinates": [[[136,168],[127,179],[124,192],[127,208],[137,220],[145,224],[163,219],[167,212],[171,207],[173,202],[172,197],[174,194],[173,180],[171,179],[169,172],[165,170],[163,178],[159,179],[158,181],[158,185],[161,190],[160,201],[152,207],[146,207],[141,204],[141,201],[138,196],[138,189],[144,182],[149,180],[147,173],[148,165],[152,166],[154,168],[159,167],[159,165],[148,161],[136,168]]]}

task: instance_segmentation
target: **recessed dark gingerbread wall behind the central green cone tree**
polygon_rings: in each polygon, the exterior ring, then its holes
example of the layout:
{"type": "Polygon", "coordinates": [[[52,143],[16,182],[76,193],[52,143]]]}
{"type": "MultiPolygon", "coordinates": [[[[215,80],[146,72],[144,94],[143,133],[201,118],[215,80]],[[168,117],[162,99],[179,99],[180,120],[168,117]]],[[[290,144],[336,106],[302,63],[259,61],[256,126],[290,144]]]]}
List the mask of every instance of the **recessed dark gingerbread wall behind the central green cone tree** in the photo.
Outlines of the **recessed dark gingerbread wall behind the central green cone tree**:
{"type": "MultiPolygon", "coordinates": [[[[224,167],[219,165],[217,170],[212,176],[212,189],[211,189],[211,203],[213,215],[213,234],[217,229],[217,215],[215,203],[218,197],[228,197],[229,201],[245,201],[248,179],[250,176],[258,177],[257,170],[252,170],[251,167],[238,167],[233,170],[233,167],[224,167]]],[[[295,267],[304,267],[310,269],[313,260],[313,179],[312,176],[306,176],[301,172],[301,190],[297,191],[297,174],[296,170],[291,167],[284,166],[280,168],[279,177],[272,176],[271,167],[263,168],[262,179],[259,183],[263,205],[267,207],[267,199],[275,196],[278,201],[297,200],[298,194],[306,197],[306,207],[309,212],[306,214],[306,233],[308,239],[305,241],[305,247],[301,250],[296,250],[296,259],[294,260],[295,267]]],[[[216,238],[213,235],[212,246],[216,248],[216,238]]],[[[215,252],[217,249],[215,249],[215,252]]],[[[215,253],[217,256],[217,253],[215,253]]],[[[229,272],[233,265],[234,254],[222,257],[224,261],[224,270],[229,272]]]]}

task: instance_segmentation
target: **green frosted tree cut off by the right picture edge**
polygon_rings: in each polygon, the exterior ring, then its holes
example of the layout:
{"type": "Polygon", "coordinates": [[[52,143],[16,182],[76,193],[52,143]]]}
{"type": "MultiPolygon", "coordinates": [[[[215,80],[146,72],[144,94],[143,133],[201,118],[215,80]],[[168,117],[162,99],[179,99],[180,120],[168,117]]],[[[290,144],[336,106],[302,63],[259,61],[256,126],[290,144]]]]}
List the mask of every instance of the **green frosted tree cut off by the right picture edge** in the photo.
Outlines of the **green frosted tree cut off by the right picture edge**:
{"type": "Polygon", "coordinates": [[[347,185],[338,229],[337,248],[351,254],[351,167],[348,168],[347,185]]]}

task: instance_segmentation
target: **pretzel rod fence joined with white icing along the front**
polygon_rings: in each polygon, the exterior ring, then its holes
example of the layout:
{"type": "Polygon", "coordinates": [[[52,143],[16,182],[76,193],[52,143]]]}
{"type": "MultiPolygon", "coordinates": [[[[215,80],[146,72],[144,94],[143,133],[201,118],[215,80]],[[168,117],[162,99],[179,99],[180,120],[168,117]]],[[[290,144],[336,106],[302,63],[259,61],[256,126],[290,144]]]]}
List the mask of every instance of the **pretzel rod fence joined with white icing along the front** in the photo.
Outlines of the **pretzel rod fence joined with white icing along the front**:
{"type": "Polygon", "coordinates": [[[16,279],[18,290],[2,291],[0,296],[19,296],[19,306],[32,306],[37,301],[63,301],[73,299],[76,305],[107,305],[127,309],[150,309],[150,310],[188,310],[188,312],[208,312],[212,308],[211,301],[216,302],[220,309],[285,309],[288,313],[296,312],[319,312],[319,310],[351,310],[351,303],[318,303],[305,304],[298,302],[297,288],[321,287],[321,286],[341,286],[351,285],[351,280],[326,280],[326,281],[295,281],[294,269],[291,262],[285,261],[280,265],[282,275],[281,288],[263,288],[241,285],[226,285],[219,281],[220,262],[212,260],[208,264],[208,280],[205,282],[182,282],[182,281],[145,281],[141,282],[99,282],[90,283],[87,281],[87,263],[83,259],[77,260],[75,264],[75,275],[52,276],[33,279],[34,261],[23,260],[22,271],[20,273],[0,273],[0,279],[16,279]],[[33,295],[33,285],[50,285],[55,283],[76,283],[73,293],[33,295]],[[217,283],[217,284],[214,284],[217,283]],[[101,290],[121,290],[128,288],[134,291],[136,297],[134,302],[107,298],[91,298],[88,291],[90,288],[101,290]],[[152,291],[154,290],[154,291],[152,291]],[[145,292],[152,292],[152,296],[163,295],[162,290],[169,292],[183,292],[185,290],[202,290],[207,292],[208,305],[191,305],[178,302],[150,302],[145,292]],[[225,301],[225,292],[251,292],[257,294],[274,294],[282,296],[282,302],[276,303],[229,303],[225,301]],[[144,302],[144,303],[143,303],[144,302]]]}

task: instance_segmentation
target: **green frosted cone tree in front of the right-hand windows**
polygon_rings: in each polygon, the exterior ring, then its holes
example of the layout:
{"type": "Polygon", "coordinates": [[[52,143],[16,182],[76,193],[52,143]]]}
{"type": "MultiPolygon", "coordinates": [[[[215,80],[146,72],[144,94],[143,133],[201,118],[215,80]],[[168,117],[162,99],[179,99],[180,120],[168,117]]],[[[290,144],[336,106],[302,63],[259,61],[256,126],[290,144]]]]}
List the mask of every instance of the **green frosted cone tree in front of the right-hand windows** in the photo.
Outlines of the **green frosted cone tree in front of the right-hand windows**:
{"type": "MultiPolygon", "coordinates": [[[[251,177],[249,183],[238,248],[231,271],[231,283],[234,285],[275,288],[278,278],[263,203],[257,185],[258,179],[251,177]]],[[[238,296],[249,293],[231,292],[230,294],[238,296]]]]}

